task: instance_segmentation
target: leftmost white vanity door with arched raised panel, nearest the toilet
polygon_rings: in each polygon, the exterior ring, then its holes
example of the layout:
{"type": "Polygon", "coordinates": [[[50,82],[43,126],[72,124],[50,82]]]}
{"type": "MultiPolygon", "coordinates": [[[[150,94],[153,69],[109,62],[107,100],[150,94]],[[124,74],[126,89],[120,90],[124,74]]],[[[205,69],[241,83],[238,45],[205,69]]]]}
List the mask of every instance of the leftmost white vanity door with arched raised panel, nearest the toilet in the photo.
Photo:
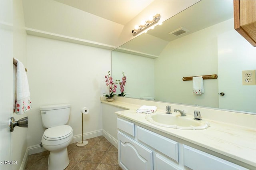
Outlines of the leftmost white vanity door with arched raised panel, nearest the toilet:
{"type": "Polygon", "coordinates": [[[153,152],[118,131],[118,162],[123,170],[153,170],[153,152]]]}

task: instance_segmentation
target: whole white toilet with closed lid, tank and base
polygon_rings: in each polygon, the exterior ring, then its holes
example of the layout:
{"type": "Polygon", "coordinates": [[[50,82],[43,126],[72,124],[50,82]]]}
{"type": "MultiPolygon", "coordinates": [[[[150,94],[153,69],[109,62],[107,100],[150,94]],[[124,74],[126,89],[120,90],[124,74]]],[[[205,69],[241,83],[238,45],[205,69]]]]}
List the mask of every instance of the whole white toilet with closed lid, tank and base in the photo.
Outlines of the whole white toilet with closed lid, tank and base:
{"type": "Polygon", "coordinates": [[[48,170],[64,170],[69,164],[67,146],[73,137],[72,127],[66,125],[70,104],[40,107],[43,127],[42,145],[50,151],[48,170]]]}

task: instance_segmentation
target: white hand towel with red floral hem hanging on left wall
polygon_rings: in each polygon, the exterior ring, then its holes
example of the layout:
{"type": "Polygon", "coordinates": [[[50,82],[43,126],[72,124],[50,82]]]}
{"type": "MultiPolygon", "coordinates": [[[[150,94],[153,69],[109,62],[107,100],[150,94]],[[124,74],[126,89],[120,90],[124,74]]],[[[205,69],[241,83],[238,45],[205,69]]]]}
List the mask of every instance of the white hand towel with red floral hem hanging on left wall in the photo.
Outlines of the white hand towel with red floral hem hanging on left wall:
{"type": "Polygon", "coordinates": [[[31,109],[30,92],[28,86],[28,77],[26,75],[25,67],[18,59],[17,69],[14,71],[14,96],[15,96],[15,107],[13,113],[21,115],[31,109]],[[16,83],[15,83],[16,81],[16,83]]]}

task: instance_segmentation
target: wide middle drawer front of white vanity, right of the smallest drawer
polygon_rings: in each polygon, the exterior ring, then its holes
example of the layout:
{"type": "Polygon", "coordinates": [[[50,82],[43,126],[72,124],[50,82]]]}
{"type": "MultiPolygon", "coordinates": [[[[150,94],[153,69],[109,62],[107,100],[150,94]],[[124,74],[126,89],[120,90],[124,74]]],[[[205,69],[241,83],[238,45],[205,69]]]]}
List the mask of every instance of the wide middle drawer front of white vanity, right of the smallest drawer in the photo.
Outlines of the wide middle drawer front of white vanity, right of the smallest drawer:
{"type": "Polygon", "coordinates": [[[178,159],[178,142],[151,132],[142,127],[138,127],[138,140],[152,146],[156,150],[162,152],[166,156],[176,160],[179,162],[178,159]]]}

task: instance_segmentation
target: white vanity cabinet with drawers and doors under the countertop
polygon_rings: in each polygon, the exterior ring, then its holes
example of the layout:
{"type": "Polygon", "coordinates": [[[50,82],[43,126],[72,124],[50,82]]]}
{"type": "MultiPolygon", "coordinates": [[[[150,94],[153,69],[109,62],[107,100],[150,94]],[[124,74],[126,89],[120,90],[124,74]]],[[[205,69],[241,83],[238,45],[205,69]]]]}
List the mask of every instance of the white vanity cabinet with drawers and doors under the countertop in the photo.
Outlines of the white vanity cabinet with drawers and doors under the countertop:
{"type": "Polygon", "coordinates": [[[244,170],[182,139],[158,134],[139,123],[117,118],[118,162],[124,170],[244,170]]]}

